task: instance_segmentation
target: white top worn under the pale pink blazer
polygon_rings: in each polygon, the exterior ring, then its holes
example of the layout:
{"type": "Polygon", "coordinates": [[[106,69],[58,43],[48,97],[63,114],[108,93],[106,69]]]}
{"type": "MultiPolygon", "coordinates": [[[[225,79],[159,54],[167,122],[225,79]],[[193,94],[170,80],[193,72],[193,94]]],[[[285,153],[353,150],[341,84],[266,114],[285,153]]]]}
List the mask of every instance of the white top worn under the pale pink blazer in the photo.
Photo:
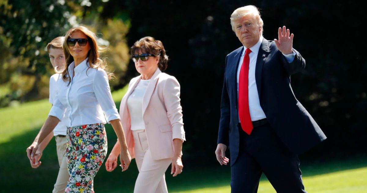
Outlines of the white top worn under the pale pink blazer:
{"type": "Polygon", "coordinates": [[[145,130],[145,124],[143,120],[143,96],[148,87],[150,80],[140,79],[138,85],[131,92],[127,99],[127,108],[130,112],[131,118],[131,130],[145,130]]]}

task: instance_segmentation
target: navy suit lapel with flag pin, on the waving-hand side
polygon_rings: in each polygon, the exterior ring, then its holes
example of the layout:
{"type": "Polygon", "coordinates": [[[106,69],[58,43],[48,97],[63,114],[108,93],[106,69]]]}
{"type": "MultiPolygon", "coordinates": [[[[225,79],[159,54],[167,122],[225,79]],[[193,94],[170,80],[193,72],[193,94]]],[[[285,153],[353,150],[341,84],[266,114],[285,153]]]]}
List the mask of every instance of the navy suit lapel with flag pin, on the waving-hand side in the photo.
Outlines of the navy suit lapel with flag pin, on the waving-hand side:
{"type": "Polygon", "coordinates": [[[257,92],[259,94],[259,99],[261,96],[261,76],[262,76],[262,67],[264,66],[264,62],[269,55],[269,42],[265,38],[262,39],[261,46],[259,48],[259,53],[257,54],[256,59],[256,67],[255,67],[255,80],[257,92]]]}

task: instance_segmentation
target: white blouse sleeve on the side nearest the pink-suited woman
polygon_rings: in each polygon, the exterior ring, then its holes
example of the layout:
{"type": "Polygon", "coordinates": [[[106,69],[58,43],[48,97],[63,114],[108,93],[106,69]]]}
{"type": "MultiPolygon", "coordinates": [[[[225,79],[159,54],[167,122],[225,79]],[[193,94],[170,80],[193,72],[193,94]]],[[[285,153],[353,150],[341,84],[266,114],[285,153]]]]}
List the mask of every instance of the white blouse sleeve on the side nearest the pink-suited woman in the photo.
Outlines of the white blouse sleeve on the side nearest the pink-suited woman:
{"type": "Polygon", "coordinates": [[[112,120],[120,119],[115,102],[112,99],[108,76],[103,69],[98,69],[94,75],[93,90],[107,122],[110,123],[112,120]]]}

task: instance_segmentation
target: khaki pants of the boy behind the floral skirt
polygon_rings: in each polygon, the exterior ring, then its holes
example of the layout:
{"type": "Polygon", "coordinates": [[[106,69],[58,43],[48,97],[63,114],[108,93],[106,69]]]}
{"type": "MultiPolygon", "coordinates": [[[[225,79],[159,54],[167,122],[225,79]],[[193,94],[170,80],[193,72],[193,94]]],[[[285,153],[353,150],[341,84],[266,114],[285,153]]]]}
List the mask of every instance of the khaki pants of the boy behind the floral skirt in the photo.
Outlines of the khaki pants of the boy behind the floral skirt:
{"type": "Polygon", "coordinates": [[[64,193],[69,180],[68,168],[66,167],[66,137],[55,137],[57,158],[59,160],[59,174],[52,193],[64,193]]]}

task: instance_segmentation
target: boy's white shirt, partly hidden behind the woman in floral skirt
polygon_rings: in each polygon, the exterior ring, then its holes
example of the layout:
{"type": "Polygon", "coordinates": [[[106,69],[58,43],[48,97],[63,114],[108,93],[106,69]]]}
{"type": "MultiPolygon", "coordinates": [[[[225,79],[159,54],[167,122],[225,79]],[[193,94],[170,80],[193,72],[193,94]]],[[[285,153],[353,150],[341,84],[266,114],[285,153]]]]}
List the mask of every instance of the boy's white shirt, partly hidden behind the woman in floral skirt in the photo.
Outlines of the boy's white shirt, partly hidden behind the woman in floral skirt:
{"type": "MultiPolygon", "coordinates": [[[[56,98],[56,93],[57,93],[57,80],[61,78],[60,74],[54,74],[51,76],[50,78],[50,97],[49,97],[49,102],[51,104],[54,104],[54,100],[56,98]]],[[[55,129],[54,129],[54,136],[57,135],[66,135],[66,125],[65,125],[65,121],[68,120],[68,117],[65,116],[65,114],[63,115],[61,121],[59,122],[59,124],[56,125],[55,129]]]]}

